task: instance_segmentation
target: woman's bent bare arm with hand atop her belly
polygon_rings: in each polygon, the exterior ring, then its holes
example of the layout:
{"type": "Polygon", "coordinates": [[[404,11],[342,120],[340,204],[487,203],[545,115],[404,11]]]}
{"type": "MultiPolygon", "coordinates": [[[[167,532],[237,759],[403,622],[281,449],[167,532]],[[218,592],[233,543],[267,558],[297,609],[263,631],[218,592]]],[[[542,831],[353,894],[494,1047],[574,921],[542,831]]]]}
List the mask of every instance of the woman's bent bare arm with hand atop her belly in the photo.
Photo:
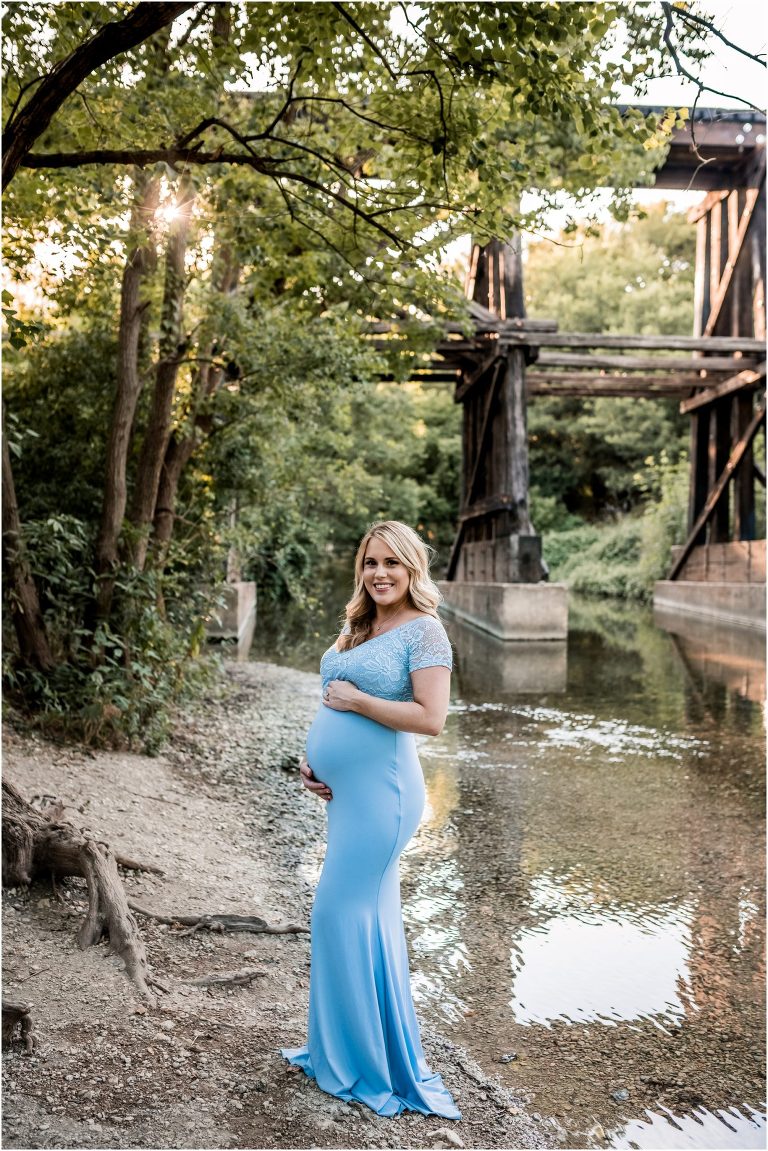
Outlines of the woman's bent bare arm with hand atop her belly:
{"type": "Polygon", "coordinates": [[[439,735],[448,715],[450,669],[420,668],[411,672],[413,702],[381,700],[367,695],[345,679],[333,679],[322,698],[335,711],[357,711],[395,731],[412,731],[418,735],[439,735]]]}

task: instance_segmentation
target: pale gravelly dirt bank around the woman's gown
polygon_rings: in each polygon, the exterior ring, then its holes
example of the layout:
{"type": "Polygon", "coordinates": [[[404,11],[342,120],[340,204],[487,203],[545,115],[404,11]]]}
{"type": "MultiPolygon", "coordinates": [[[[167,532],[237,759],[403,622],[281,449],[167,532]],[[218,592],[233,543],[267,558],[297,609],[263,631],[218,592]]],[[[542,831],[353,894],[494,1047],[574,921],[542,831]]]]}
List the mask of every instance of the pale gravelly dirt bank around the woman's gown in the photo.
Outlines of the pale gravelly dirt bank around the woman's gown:
{"type": "MultiPolygon", "coordinates": [[[[214,699],[180,716],[157,757],[3,731],[6,778],[162,875],[124,872],[160,915],[239,913],[309,925],[325,811],[298,784],[319,678],[231,664],[214,699]]],[[[382,1119],[325,1095],[279,1047],[305,1041],[306,933],[181,935],[139,916],[167,983],[146,1006],[104,946],[81,952],[84,881],[3,891],[3,993],[32,1006],[37,1047],[3,1052],[7,1148],[546,1148],[562,1128],[425,1020],[427,1059],[464,1118],[382,1119]],[[245,986],[200,976],[257,969],[245,986]]],[[[556,1121],[555,1121],[556,1123],[556,1121]]]]}

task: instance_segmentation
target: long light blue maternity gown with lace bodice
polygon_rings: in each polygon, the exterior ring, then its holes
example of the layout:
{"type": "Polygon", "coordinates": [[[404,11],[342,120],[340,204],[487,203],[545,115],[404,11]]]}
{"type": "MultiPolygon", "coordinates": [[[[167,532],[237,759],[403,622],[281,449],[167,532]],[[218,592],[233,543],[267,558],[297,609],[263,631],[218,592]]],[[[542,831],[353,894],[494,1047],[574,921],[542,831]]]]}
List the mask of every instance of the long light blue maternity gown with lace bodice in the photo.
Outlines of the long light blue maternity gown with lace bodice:
{"type": "MultiPolygon", "coordinates": [[[[412,671],[451,666],[439,619],[421,616],[349,651],[328,648],[324,689],[345,679],[385,700],[413,699],[412,671]]],[[[306,759],[328,784],[328,845],[312,907],[307,1043],[283,1047],[318,1087],[379,1115],[461,1119],[426,1064],[411,999],[400,901],[400,855],[425,801],[409,732],[320,704],[306,759]]]]}

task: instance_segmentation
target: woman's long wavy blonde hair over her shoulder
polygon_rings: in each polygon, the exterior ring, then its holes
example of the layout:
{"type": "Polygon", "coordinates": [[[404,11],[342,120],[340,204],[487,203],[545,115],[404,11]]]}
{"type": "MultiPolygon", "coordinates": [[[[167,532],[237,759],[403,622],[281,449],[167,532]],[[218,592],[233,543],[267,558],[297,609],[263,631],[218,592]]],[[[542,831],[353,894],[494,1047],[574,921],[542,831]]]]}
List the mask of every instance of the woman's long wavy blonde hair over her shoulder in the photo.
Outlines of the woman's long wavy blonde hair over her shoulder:
{"type": "Polygon", "coordinates": [[[344,623],[349,631],[340,637],[340,651],[358,647],[371,635],[377,605],[363,581],[363,569],[368,543],[374,539],[386,543],[408,570],[408,597],[411,605],[428,616],[438,616],[442,595],[429,576],[434,549],[408,524],[401,524],[396,519],[381,520],[367,529],[355,556],[355,590],[344,610],[344,623]]]}

